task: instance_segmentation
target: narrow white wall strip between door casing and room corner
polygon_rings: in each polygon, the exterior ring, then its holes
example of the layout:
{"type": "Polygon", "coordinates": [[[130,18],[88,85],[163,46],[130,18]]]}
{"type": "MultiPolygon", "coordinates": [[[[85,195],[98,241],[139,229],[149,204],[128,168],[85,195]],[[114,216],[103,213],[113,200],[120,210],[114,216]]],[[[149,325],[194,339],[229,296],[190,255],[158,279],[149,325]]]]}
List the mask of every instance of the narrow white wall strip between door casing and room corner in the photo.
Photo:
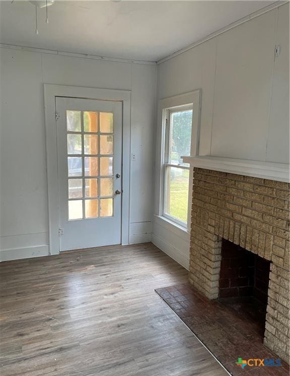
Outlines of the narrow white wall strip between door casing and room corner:
{"type": "Polygon", "coordinates": [[[156,66],[142,67],[132,65],[130,243],[151,241],[152,233],[156,66]]]}

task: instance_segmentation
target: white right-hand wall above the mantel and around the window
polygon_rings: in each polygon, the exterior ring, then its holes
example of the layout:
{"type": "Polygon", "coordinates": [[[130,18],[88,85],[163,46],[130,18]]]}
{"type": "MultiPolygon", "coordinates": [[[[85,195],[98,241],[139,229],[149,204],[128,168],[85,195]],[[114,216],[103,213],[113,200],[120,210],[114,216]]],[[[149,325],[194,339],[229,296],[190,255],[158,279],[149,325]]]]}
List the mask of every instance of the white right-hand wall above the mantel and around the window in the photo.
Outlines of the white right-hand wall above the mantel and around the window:
{"type": "MultiPolygon", "coordinates": [[[[200,155],[289,163],[288,58],[286,4],[162,62],[158,99],[202,90],[200,155]]],[[[179,235],[186,246],[155,217],[153,242],[188,266],[189,238],[179,235]]]]}

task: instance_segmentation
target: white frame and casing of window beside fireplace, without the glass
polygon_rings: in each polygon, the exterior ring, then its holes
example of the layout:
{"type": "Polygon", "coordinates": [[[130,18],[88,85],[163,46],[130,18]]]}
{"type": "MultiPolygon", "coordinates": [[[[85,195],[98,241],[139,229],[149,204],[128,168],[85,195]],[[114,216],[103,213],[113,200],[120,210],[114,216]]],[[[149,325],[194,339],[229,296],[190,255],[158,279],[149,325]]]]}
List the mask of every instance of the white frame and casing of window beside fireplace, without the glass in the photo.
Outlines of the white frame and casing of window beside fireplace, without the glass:
{"type": "MultiPolygon", "coordinates": [[[[177,95],[174,97],[164,98],[159,101],[158,106],[158,139],[157,139],[157,164],[156,164],[156,205],[155,215],[160,219],[165,220],[169,224],[178,227],[183,231],[190,232],[191,225],[191,196],[192,196],[192,175],[193,169],[186,167],[189,170],[189,188],[188,188],[188,212],[187,212],[187,224],[172,217],[164,212],[165,202],[165,165],[177,167],[167,163],[166,151],[166,119],[168,119],[170,112],[174,112],[174,108],[177,109],[192,109],[192,126],[191,126],[191,147],[190,155],[198,155],[199,146],[199,129],[200,129],[200,95],[201,90],[195,90],[190,93],[177,95]]],[[[182,167],[184,168],[184,166],[182,167]]]]}

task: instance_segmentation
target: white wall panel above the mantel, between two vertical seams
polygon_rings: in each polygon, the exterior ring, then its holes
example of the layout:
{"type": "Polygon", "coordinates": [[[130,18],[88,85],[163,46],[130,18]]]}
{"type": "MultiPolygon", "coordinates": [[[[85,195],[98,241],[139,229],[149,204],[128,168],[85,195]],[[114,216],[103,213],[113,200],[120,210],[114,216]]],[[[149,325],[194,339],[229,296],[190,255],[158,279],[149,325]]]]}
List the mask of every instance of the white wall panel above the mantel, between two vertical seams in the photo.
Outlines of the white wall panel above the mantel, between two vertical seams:
{"type": "Polygon", "coordinates": [[[266,158],[277,11],[219,35],[211,155],[266,158]]]}

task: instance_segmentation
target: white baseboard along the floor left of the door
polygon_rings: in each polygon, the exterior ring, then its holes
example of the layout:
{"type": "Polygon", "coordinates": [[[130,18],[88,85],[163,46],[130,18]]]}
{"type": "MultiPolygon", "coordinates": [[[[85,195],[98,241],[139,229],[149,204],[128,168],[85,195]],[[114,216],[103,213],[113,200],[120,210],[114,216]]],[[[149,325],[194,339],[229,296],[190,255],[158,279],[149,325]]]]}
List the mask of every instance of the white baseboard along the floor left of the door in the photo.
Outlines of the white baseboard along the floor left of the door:
{"type": "Polygon", "coordinates": [[[48,245],[35,245],[32,247],[24,247],[24,248],[1,249],[0,250],[0,262],[30,259],[32,257],[40,257],[40,256],[48,256],[48,255],[49,255],[48,245]]]}

